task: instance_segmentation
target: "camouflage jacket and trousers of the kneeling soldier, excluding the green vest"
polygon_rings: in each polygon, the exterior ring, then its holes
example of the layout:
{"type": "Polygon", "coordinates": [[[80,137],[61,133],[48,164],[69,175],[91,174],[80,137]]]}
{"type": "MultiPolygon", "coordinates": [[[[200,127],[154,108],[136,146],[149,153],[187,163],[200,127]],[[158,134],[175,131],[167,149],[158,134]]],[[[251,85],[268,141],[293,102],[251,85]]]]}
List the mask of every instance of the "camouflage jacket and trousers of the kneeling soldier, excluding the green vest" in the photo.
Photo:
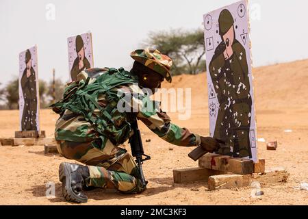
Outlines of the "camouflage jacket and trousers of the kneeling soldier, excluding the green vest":
{"type": "MultiPolygon", "coordinates": [[[[153,66],[157,68],[157,65],[153,66]]],[[[166,75],[163,72],[162,74],[166,75]]],[[[78,75],[78,80],[86,80],[87,76],[84,71],[78,75]]],[[[90,79],[89,84],[94,83],[94,81],[95,79],[90,79]]],[[[136,82],[138,81],[136,80],[136,82]]],[[[149,99],[149,96],[140,89],[137,83],[118,86],[112,90],[125,94],[125,96],[128,94],[130,97],[129,108],[133,111],[129,113],[128,117],[138,118],[166,142],[178,146],[201,144],[200,136],[170,123],[168,115],[160,110],[155,101],[149,99]],[[152,107],[149,107],[149,105],[152,107]]],[[[101,107],[106,107],[105,95],[100,95],[97,102],[101,107]]],[[[94,110],[94,113],[99,113],[99,111],[94,110]]],[[[55,127],[55,139],[59,143],[58,151],[68,159],[75,159],[88,165],[90,170],[88,186],[116,188],[120,192],[127,193],[142,192],[145,189],[142,188],[139,168],[133,157],[125,149],[113,144],[104,136],[100,136],[92,123],[86,121],[83,116],[66,110],[57,120],[55,127]]],[[[132,134],[131,131],[129,136],[132,134]]]]}

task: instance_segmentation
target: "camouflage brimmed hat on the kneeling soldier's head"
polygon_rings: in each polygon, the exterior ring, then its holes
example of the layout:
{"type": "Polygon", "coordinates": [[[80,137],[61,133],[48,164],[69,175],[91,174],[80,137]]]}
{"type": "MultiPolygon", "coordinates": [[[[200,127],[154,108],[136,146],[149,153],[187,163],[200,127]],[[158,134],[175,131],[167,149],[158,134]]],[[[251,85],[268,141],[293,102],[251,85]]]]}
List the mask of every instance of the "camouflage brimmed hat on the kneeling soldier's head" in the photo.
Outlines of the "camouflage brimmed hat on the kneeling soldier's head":
{"type": "Polygon", "coordinates": [[[162,75],[166,81],[171,83],[172,77],[170,68],[172,66],[172,60],[167,55],[162,54],[157,49],[138,49],[131,52],[131,57],[136,62],[139,62],[159,73],[159,75],[162,75]]]}

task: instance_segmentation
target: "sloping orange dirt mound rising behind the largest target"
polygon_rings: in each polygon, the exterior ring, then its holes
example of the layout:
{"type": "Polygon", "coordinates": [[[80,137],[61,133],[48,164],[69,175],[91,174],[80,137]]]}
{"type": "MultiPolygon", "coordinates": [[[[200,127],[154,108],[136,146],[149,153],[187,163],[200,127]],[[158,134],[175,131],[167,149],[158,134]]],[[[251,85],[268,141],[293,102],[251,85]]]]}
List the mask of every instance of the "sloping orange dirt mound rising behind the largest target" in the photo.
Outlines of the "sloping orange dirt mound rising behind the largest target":
{"type": "MultiPolygon", "coordinates": [[[[257,110],[308,109],[308,60],[253,68],[257,110]]],[[[192,108],[207,107],[207,75],[178,75],[164,88],[192,88],[192,108]]]]}

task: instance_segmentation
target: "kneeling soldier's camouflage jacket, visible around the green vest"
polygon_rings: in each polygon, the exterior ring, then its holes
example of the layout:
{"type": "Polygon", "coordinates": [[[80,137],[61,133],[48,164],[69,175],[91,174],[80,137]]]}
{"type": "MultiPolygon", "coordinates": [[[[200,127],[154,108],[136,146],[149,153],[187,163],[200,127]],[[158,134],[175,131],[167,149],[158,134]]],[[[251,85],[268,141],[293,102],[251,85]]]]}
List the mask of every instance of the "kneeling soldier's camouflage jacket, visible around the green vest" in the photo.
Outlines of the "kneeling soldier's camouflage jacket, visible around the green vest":
{"type": "MultiPolygon", "coordinates": [[[[86,80],[87,77],[87,73],[82,72],[78,75],[77,80],[86,80]]],[[[95,79],[90,79],[89,83],[94,81],[95,79]]],[[[113,90],[123,94],[123,96],[124,94],[133,94],[128,95],[130,96],[129,108],[136,115],[136,118],[141,120],[159,138],[178,146],[197,146],[201,144],[200,136],[191,133],[188,129],[170,123],[170,117],[166,112],[160,109],[157,102],[151,101],[137,83],[118,86],[113,90]],[[153,107],[149,107],[149,105],[153,107]]],[[[105,107],[108,103],[103,94],[99,96],[97,102],[101,107],[105,107]]],[[[99,110],[94,110],[94,113],[99,114],[99,110]]],[[[95,131],[92,124],[86,121],[83,116],[74,114],[70,110],[66,110],[55,125],[56,140],[90,142],[97,138],[101,138],[101,136],[95,131]]],[[[103,144],[105,142],[103,141],[103,144]]],[[[102,145],[103,147],[104,145],[102,145]]]]}

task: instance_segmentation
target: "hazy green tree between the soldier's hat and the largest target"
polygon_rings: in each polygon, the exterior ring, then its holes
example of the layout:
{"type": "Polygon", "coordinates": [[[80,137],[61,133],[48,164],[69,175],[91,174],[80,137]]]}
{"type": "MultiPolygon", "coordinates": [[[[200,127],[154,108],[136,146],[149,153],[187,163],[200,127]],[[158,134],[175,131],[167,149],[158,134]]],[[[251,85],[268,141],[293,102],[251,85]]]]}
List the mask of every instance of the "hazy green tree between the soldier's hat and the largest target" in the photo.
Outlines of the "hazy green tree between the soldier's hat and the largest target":
{"type": "Polygon", "coordinates": [[[153,47],[173,60],[172,74],[197,74],[206,70],[205,44],[202,29],[151,32],[146,47],[153,47]]]}

